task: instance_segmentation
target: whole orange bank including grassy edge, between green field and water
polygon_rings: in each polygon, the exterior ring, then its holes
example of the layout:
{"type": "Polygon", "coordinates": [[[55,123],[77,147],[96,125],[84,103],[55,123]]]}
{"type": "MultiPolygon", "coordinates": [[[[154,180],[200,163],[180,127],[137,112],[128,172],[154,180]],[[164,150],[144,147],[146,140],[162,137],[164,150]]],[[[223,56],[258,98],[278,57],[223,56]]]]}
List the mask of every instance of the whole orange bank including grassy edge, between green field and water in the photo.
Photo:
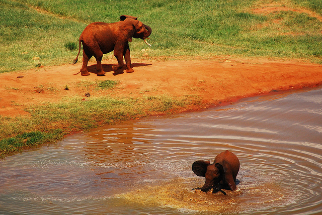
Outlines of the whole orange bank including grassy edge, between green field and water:
{"type": "Polygon", "coordinates": [[[40,144],[55,143],[72,132],[100,125],[200,111],[247,97],[322,84],[322,65],[301,60],[227,59],[225,56],[189,61],[133,59],[132,62],[133,73],[114,75],[111,67],[116,60],[102,61],[103,70],[107,72],[103,77],[95,74],[96,62],[89,64],[90,76],[74,75],[81,63],[0,74],[0,122],[8,127],[5,128],[8,131],[0,130],[0,141],[19,137],[20,143],[18,148],[12,149],[5,143],[7,148],[0,146],[0,154],[8,156],[40,144]],[[118,84],[109,89],[97,87],[99,81],[108,80],[118,84]],[[64,90],[66,87],[68,90],[64,90]],[[85,96],[87,92],[90,97],[85,96]],[[120,104],[112,105],[114,109],[106,112],[100,102],[120,104]],[[92,107],[97,113],[92,113],[92,107]],[[74,108],[73,115],[65,114],[74,108]],[[57,111],[66,119],[54,119],[59,115],[57,111]],[[87,116],[89,112],[92,115],[87,116]],[[99,114],[102,116],[96,116],[99,114]],[[45,119],[47,115],[51,117],[45,119]],[[74,122],[79,118],[84,118],[84,122],[74,122]],[[17,131],[17,127],[21,129],[17,131]],[[27,136],[21,137],[22,133],[27,136]],[[35,137],[40,139],[33,144],[35,137]]]}

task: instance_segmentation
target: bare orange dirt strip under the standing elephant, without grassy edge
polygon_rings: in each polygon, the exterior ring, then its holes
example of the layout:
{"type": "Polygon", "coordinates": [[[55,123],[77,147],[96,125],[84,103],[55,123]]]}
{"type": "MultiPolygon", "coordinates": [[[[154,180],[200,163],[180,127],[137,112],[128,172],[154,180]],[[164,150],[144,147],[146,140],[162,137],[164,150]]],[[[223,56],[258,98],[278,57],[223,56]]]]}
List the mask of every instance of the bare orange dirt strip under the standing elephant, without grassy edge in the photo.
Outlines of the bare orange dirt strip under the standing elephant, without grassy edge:
{"type": "Polygon", "coordinates": [[[96,63],[90,62],[90,76],[74,75],[82,63],[41,67],[28,71],[0,74],[0,115],[26,115],[29,104],[55,102],[64,96],[130,96],[199,95],[204,106],[234,99],[322,83],[322,65],[303,61],[270,61],[254,59],[162,61],[132,59],[133,73],[114,75],[116,60],[105,60],[105,76],[97,76],[96,63]],[[19,76],[23,76],[18,78],[19,76]],[[92,90],[77,87],[81,81],[119,80],[114,90],[92,90]],[[64,90],[65,86],[69,90],[64,90]]]}

